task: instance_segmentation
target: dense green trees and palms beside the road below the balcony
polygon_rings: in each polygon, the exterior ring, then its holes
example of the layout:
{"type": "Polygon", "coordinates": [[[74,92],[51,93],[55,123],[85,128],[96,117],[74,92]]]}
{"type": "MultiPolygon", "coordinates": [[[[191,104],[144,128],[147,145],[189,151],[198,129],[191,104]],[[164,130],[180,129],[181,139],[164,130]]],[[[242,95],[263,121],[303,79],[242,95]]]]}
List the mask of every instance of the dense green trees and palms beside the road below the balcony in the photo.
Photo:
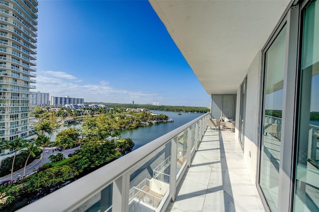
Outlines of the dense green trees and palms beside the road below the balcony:
{"type": "MultiPolygon", "coordinates": [[[[33,147],[42,147],[43,151],[45,151],[45,148],[52,144],[47,135],[50,136],[57,129],[56,113],[44,111],[40,114],[43,114],[43,116],[36,124],[38,137],[35,139],[34,145],[29,145],[32,153],[30,151],[22,151],[19,154],[14,154],[14,157],[5,159],[4,165],[1,165],[0,170],[6,169],[7,171],[1,171],[1,173],[8,174],[12,166],[14,170],[22,168],[25,161],[32,161],[31,155],[33,152],[39,156],[40,152],[32,150],[33,147]],[[15,161],[13,161],[14,159],[15,161]]],[[[28,202],[35,201],[131,152],[134,147],[133,140],[121,138],[121,134],[117,129],[121,128],[126,121],[130,120],[130,123],[139,123],[144,118],[167,119],[168,117],[164,115],[154,117],[150,113],[141,115],[137,112],[123,114],[123,109],[114,109],[113,112],[88,116],[84,120],[83,131],[74,128],[60,131],[53,145],[62,147],[63,152],[49,156],[52,163],[43,165],[42,162],[42,167],[36,173],[17,181],[11,181],[6,185],[1,185],[0,195],[5,196],[6,200],[4,204],[0,204],[0,210],[8,209],[8,207],[11,210],[12,206],[18,205],[24,199],[27,199],[28,202]],[[75,151],[73,156],[64,159],[66,148],[79,145],[81,147],[75,151]]],[[[20,140],[18,141],[20,142],[20,140]]],[[[17,144],[19,148],[26,147],[24,142],[17,144]]],[[[6,142],[3,145],[1,144],[1,147],[4,148],[5,145],[7,145],[6,142]]],[[[14,210],[16,209],[14,208],[14,210]]]]}

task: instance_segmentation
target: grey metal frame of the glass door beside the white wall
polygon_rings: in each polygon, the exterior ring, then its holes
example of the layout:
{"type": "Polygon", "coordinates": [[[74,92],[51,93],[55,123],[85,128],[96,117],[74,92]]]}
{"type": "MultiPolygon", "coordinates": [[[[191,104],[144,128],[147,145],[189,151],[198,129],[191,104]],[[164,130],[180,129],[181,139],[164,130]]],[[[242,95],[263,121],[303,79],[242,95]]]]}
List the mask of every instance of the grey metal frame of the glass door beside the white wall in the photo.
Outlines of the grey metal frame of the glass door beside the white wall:
{"type": "Polygon", "coordinates": [[[263,105],[264,105],[264,78],[265,78],[265,56],[274,40],[284,25],[287,26],[286,32],[286,56],[284,71],[284,93],[282,110],[282,137],[281,137],[281,156],[279,166],[279,193],[278,193],[278,211],[292,211],[294,197],[294,178],[295,178],[295,160],[297,143],[297,122],[298,122],[298,85],[299,85],[299,66],[300,66],[300,32],[301,32],[301,9],[305,2],[291,1],[283,13],[280,21],[276,25],[270,38],[262,49],[261,58],[261,87],[260,87],[260,108],[258,121],[258,163],[257,163],[257,190],[261,196],[266,211],[270,211],[268,203],[260,187],[261,171],[261,149],[262,135],[264,129],[263,123],[263,105]]]}

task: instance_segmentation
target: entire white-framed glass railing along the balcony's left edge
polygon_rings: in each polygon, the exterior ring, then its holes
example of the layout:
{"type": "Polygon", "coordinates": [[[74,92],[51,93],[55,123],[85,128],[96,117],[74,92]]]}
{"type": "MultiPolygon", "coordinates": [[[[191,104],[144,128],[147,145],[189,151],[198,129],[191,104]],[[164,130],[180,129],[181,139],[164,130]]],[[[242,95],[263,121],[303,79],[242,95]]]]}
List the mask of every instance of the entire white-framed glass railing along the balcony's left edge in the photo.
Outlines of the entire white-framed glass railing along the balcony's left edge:
{"type": "Polygon", "coordinates": [[[160,211],[175,199],[208,117],[203,114],[22,210],[49,205],[52,211],[160,211]]]}

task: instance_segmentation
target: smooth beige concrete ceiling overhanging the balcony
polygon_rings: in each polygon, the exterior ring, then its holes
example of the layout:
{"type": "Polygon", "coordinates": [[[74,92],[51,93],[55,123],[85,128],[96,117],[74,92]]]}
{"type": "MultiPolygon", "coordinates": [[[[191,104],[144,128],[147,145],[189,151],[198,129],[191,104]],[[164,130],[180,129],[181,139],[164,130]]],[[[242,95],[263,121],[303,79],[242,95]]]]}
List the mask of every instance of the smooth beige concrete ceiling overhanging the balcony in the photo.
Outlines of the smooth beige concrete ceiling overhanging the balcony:
{"type": "Polygon", "coordinates": [[[235,94],[289,0],[150,0],[208,94],[235,94]]]}

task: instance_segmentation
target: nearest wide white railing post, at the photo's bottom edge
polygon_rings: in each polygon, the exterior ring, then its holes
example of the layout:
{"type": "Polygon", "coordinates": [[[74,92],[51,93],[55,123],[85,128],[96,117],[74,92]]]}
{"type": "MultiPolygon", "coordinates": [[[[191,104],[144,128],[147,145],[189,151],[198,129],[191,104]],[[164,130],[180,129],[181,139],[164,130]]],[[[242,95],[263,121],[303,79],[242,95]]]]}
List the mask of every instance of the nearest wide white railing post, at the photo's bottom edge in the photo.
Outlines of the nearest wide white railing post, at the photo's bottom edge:
{"type": "Polygon", "coordinates": [[[130,174],[126,172],[113,182],[112,211],[129,211],[130,174]]]}

